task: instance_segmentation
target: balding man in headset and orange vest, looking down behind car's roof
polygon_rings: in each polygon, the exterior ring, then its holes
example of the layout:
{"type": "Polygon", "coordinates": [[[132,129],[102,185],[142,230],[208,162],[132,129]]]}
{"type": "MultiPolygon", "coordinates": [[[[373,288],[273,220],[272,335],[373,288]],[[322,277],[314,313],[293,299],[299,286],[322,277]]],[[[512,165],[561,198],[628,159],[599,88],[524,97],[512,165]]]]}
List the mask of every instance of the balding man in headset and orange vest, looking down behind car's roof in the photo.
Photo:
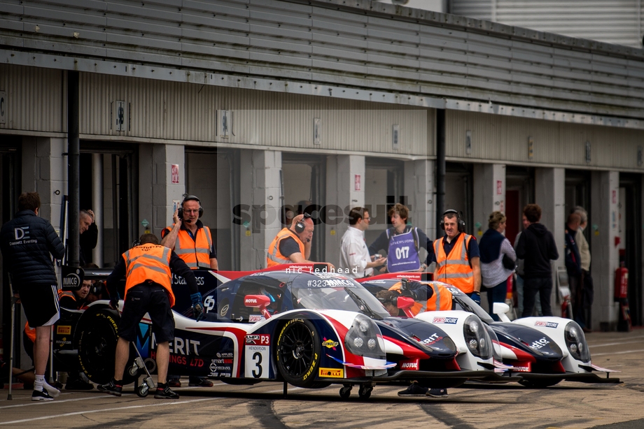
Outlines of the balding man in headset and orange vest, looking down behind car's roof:
{"type": "Polygon", "coordinates": [[[290,227],[283,228],[268,247],[266,268],[282,263],[307,263],[311,256],[311,238],[315,226],[308,213],[293,218],[290,227]]]}

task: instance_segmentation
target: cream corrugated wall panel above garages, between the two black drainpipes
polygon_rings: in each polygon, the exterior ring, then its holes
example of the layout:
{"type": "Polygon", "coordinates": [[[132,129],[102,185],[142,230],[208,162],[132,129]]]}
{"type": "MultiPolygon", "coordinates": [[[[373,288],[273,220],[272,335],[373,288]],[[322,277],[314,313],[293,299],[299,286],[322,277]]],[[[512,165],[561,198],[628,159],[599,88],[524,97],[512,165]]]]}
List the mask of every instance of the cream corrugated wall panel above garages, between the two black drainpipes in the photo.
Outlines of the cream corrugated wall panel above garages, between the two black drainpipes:
{"type": "Polygon", "coordinates": [[[80,133],[232,143],[370,154],[429,156],[434,152],[433,109],[274,94],[163,80],[81,74],[80,133]],[[110,127],[111,103],[125,101],[127,131],[110,127]],[[228,138],[216,136],[217,109],[232,114],[228,138]],[[314,118],[321,119],[321,145],[314,145],[314,118]],[[393,150],[393,124],[400,147],[393,150]]]}

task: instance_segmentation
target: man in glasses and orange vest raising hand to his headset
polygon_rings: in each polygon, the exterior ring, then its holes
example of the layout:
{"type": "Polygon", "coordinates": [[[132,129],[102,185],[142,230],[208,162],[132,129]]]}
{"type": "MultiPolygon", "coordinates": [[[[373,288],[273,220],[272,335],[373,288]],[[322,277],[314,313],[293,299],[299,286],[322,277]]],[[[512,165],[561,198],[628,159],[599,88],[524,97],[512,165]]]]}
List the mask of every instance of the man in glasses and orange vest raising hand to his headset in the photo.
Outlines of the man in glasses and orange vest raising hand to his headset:
{"type": "MultiPolygon", "coordinates": [[[[199,198],[186,195],[172,216],[174,224],[161,231],[161,245],[174,250],[192,270],[217,270],[217,252],[210,228],[199,220],[203,215],[199,198]]],[[[168,385],[181,387],[181,381],[176,375],[168,375],[168,385]]],[[[213,384],[205,377],[191,376],[188,385],[212,387],[213,384]]]]}

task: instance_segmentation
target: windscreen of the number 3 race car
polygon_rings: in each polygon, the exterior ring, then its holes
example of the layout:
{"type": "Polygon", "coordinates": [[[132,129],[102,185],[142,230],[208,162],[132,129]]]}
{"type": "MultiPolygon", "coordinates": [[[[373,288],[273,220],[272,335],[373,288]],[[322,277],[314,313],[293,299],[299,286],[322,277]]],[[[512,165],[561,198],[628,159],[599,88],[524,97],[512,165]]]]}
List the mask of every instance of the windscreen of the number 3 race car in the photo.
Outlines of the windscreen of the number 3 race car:
{"type": "Polygon", "coordinates": [[[291,286],[293,307],[360,312],[373,319],[389,316],[369,291],[353,279],[302,275],[291,286]]]}

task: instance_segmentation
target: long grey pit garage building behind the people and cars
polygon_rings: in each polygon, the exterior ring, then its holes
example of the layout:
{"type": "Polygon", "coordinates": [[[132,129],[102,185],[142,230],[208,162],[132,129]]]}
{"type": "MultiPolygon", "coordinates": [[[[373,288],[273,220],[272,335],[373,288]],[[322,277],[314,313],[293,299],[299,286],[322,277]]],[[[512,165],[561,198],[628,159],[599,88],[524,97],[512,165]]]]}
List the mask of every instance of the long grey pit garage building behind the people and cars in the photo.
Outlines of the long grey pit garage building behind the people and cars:
{"type": "Polygon", "coordinates": [[[300,201],[318,209],[312,259],[336,265],[356,205],[367,242],[396,202],[432,239],[437,205],[477,237],[502,210],[513,241],[534,202],[563,266],[582,205],[592,328],[615,329],[620,260],[644,321],[643,50],[368,0],[0,0],[0,45],[1,221],[38,191],[59,226],[76,105],[100,266],[186,192],[233,270],[265,267],[300,201]]]}

